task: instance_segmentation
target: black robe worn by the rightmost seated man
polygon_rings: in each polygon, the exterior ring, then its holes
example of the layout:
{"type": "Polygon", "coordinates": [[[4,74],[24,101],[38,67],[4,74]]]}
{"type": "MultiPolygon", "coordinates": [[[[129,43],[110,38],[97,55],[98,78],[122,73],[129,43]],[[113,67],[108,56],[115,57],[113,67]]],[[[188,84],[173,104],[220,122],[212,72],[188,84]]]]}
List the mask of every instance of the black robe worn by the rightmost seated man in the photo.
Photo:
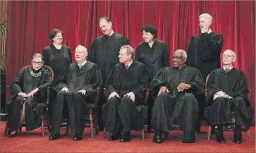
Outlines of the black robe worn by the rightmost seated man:
{"type": "MultiPolygon", "coordinates": [[[[245,102],[245,107],[242,107],[242,105],[240,104],[238,107],[240,109],[240,114],[242,114],[243,119],[247,119],[247,120],[243,120],[244,123],[246,122],[246,126],[250,127],[251,123],[252,123],[252,114],[253,114],[253,110],[250,107],[250,100],[248,98],[248,85],[246,82],[246,78],[245,75],[243,73],[243,71],[240,71],[236,68],[232,68],[230,71],[228,71],[228,73],[226,73],[224,71],[223,68],[218,68],[214,71],[212,71],[212,73],[210,73],[209,76],[209,82],[207,85],[207,97],[206,97],[206,105],[207,106],[213,106],[214,104],[214,94],[219,92],[219,91],[223,91],[226,94],[228,94],[229,96],[233,97],[233,99],[235,99],[236,97],[242,97],[244,102],[245,102]]],[[[231,108],[231,103],[233,99],[226,99],[226,109],[227,108],[231,108]]],[[[219,112],[219,107],[218,108],[212,108],[209,109],[209,107],[207,107],[205,110],[205,116],[207,116],[207,121],[209,121],[209,123],[211,125],[214,125],[212,123],[212,121],[214,121],[214,111],[219,112]]],[[[225,115],[226,119],[228,119],[227,117],[230,115],[231,111],[230,110],[226,110],[225,111],[225,115]]]]}

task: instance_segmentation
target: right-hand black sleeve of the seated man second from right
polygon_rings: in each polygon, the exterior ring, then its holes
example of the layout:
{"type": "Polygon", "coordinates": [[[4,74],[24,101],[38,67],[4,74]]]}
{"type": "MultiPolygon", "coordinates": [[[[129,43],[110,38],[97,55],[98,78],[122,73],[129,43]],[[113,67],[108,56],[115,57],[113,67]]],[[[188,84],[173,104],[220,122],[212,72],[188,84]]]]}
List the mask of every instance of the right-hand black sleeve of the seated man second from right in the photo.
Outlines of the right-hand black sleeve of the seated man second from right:
{"type": "Polygon", "coordinates": [[[202,94],[202,92],[204,92],[205,82],[199,70],[196,69],[195,75],[193,75],[192,80],[190,80],[188,84],[191,85],[189,90],[191,90],[193,93],[202,94]]]}

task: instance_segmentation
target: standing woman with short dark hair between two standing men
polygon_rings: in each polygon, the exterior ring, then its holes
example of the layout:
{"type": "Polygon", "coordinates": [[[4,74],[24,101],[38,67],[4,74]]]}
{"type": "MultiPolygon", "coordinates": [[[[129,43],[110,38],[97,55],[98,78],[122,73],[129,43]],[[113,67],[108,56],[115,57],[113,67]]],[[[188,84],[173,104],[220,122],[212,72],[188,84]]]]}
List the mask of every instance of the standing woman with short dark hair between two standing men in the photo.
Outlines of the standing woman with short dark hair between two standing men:
{"type": "MultiPolygon", "coordinates": [[[[151,82],[154,75],[163,68],[170,66],[169,64],[169,51],[165,42],[162,42],[157,37],[157,29],[153,25],[145,25],[141,29],[144,42],[138,44],[135,52],[135,60],[144,63],[147,67],[148,80],[151,82]]],[[[154,98],[152,96],[148,99],[148,112],[147,112],[147,132],[151,131],[151,118],[152,118],[152,105],[154,98]]]]}

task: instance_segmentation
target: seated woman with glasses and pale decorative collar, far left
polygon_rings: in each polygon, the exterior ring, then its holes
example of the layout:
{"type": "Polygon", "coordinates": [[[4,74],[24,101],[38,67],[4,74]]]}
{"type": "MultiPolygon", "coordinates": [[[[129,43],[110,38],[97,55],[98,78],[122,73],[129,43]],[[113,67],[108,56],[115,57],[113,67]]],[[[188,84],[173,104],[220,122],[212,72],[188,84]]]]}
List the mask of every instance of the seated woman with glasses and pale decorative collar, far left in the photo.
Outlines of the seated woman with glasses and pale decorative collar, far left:
{"type": "Polygon", "coordinates": [[[11,84],[11,102],[7,104],[9,137],[17,135],[24,121],[27,131],[41,126],[40,111],[47,87],[52,83],[51,75],[42,65],[42,54],[35,54],[32,66],[23,68],[11,84]]]}

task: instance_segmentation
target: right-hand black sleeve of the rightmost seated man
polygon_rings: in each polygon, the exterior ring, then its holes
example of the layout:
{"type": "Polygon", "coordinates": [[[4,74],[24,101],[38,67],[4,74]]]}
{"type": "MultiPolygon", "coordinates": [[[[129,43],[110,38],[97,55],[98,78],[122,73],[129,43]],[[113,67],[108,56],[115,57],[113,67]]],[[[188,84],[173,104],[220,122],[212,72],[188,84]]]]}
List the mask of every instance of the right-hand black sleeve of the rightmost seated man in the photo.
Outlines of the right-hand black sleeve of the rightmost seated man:
{"type": "Polygon", "coordinates": [[[239,81],[236,84],[236,88],[235,90],[232,90],[231,92],[228,92],[226,94],[228,94],[229,96],[235,98],[235,97],[243,97],[243,99],[245,99],[245,101],[248,101],[247,103],[250,104],[249,100],[248,100],[248,85],[246,82],[246,78],[243,72],[241,72],[239,81]]]}

